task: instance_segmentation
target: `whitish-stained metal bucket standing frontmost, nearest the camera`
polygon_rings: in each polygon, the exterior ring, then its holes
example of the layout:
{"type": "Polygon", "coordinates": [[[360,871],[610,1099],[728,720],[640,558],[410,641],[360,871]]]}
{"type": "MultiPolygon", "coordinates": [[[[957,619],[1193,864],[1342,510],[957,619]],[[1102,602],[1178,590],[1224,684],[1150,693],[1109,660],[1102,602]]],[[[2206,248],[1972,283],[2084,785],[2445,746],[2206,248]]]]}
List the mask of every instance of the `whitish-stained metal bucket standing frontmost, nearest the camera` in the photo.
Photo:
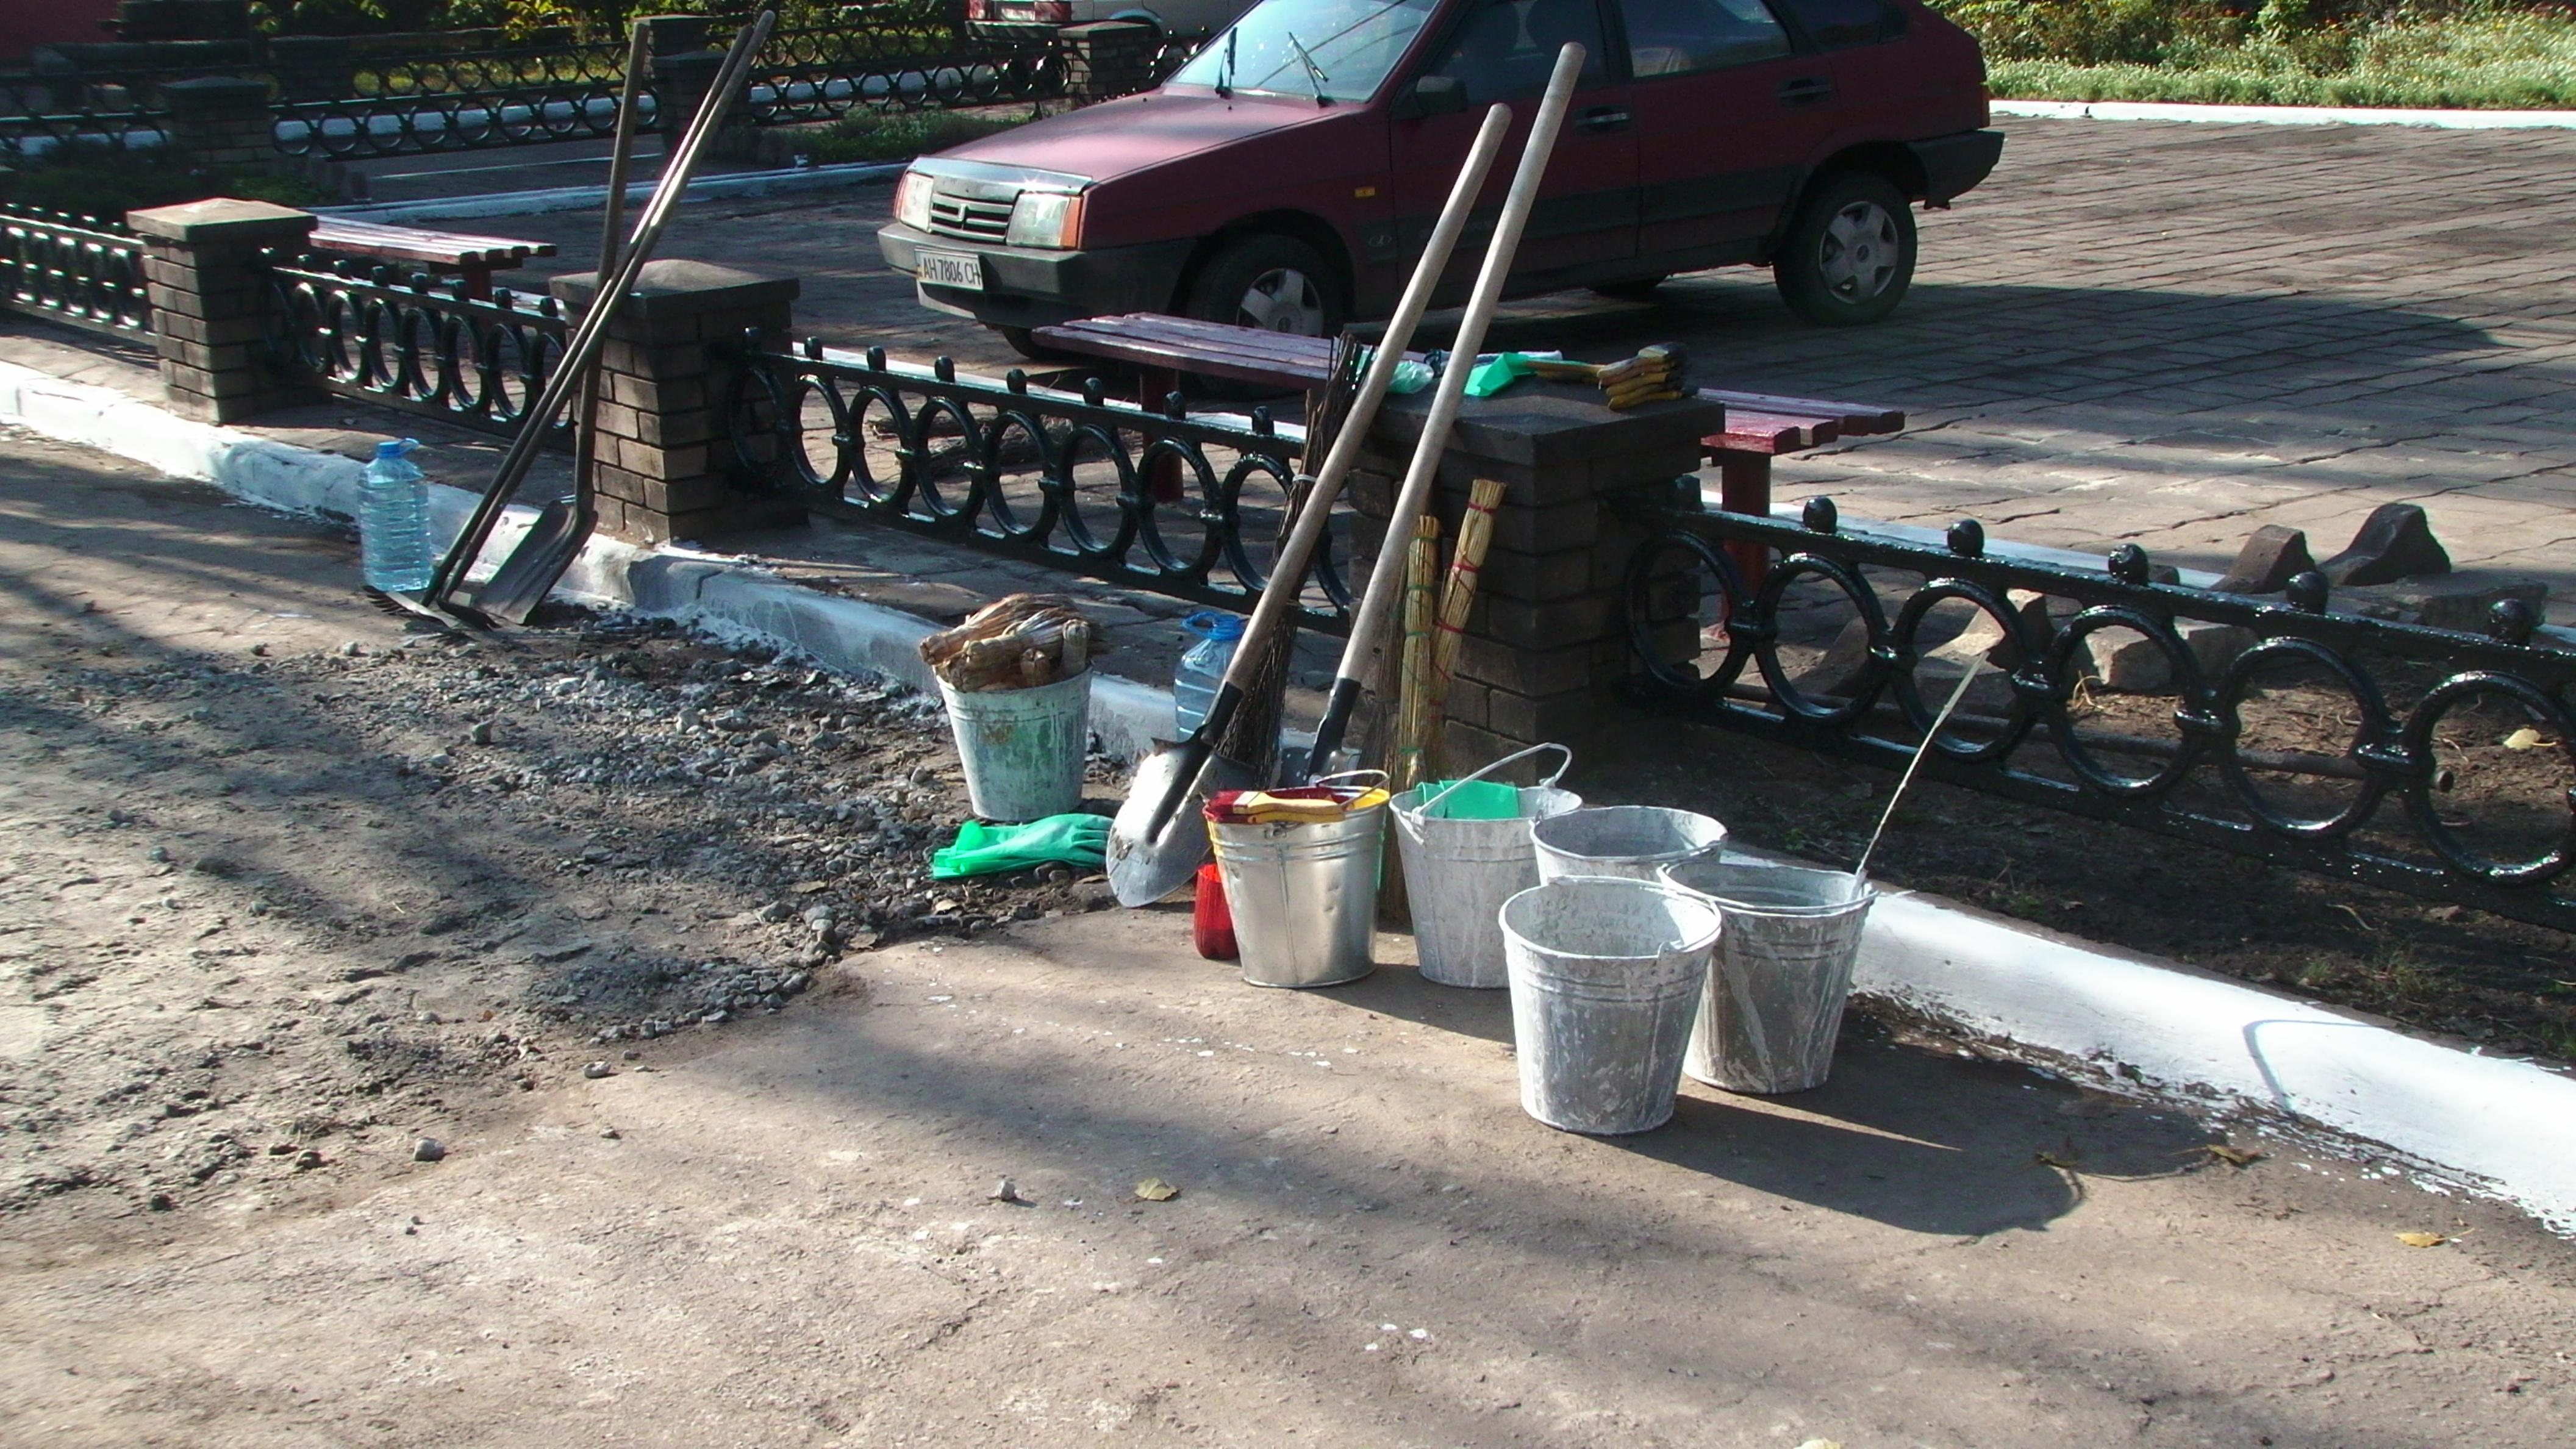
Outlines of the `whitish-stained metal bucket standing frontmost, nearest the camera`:
{"type": "Polygon", "coordinates": [[[1718,910],[1687,892],[1566,877],[1502,902],[1520,1109],[1566,1132],[1672,1119],[1718,910]]]}

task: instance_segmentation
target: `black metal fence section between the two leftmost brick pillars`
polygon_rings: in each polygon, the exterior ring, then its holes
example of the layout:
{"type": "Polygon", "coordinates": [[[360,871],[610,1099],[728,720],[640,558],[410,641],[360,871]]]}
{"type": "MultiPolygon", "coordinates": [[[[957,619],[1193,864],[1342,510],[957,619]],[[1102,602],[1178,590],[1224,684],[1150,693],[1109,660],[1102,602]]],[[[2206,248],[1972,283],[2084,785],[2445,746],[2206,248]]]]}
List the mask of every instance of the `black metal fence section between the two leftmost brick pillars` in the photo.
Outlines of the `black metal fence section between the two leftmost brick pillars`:
{"type": "MultiPolygon", "coordinates": [[[[386,266],[270,258],[270,366],[343,397],[515,433],[564,356],[567,320],[551,297],[489,299],[464,284],[386,266]]],[[[556,433],[564,433],[556,423],[556,433]]]]}

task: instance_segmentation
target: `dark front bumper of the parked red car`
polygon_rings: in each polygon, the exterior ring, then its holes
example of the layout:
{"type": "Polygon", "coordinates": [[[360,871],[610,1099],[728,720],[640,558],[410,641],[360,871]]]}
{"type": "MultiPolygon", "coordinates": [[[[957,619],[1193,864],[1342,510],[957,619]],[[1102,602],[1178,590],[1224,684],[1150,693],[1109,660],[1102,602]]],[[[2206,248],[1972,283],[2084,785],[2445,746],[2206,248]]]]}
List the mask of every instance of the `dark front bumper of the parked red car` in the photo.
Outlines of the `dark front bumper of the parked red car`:
{"type": "Polygon", "coordinates": [[[1046,327],[1113,312],[1170,312],[1193,242],[1056,253],[961,242],[902,222],[876,232],[876,250],[904,276],[920,276],[922,248],[984,258],[984,291],[914,284],[922,307],[992,327],[1046,327]]]}

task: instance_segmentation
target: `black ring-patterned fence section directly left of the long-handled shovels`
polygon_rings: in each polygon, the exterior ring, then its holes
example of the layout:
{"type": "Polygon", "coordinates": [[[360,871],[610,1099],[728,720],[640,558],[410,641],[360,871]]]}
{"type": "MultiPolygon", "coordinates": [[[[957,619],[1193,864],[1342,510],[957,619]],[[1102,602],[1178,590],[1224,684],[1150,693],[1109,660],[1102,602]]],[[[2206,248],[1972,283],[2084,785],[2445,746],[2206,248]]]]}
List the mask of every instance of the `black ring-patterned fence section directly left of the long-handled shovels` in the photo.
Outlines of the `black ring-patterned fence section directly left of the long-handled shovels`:
{"type": "MultiPolygon", "coordinates": [[[[976,379],[884,348],[744,361],[726,428],[752,490],[1216,608],[1249,608],[1267,578],[1303,436],[1260,407],[1188,418],[1177,394],[1151,410],[1097,379],[976,379]]],[[[1327,544],[1301,598],[1303,621],[1334,634],[1342,554],[1327,544]]]]}

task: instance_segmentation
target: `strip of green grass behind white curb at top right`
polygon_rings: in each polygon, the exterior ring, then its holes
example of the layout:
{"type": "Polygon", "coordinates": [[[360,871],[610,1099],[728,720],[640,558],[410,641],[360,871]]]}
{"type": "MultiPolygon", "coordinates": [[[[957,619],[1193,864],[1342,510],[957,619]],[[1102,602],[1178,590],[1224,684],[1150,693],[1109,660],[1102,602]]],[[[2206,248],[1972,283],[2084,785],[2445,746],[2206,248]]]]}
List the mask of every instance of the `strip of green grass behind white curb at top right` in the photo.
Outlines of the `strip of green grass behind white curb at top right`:
{"type": "Polygon", "coordinates": [[[2494,0],[2308,21],[2141,0],[1958,0],[1994,95],[2226,106],[2576,108],[2576,15],[2494,0]]]}

